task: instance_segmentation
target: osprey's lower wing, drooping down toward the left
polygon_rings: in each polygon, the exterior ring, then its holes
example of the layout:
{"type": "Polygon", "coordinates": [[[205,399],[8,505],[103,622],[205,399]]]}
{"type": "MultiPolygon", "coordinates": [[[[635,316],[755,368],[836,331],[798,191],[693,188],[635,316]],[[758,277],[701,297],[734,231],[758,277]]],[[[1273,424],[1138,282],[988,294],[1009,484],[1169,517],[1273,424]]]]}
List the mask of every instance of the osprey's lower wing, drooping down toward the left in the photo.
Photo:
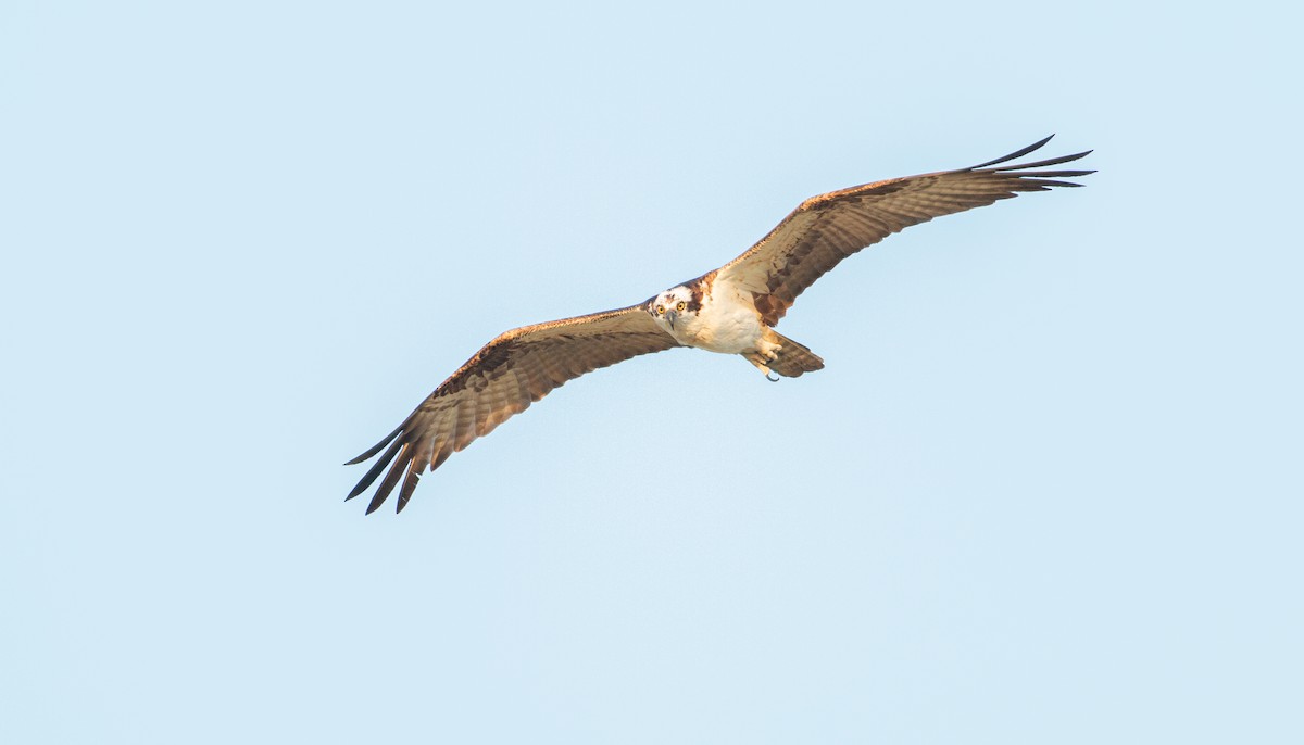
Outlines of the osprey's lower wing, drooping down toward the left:
{"type": "Polygon", "coordinates": [[[439,468],[450,455],[524,412],[553,388],[599,367],[678,345],[652,322],[647,302],[514,328],[439,384],[387,438],[346,464],[360,464],[389,445],[347,499],[366,491],[393,462],[366,512],[374,512],[399,479],[402,511],[421,471],[439,468]]]}

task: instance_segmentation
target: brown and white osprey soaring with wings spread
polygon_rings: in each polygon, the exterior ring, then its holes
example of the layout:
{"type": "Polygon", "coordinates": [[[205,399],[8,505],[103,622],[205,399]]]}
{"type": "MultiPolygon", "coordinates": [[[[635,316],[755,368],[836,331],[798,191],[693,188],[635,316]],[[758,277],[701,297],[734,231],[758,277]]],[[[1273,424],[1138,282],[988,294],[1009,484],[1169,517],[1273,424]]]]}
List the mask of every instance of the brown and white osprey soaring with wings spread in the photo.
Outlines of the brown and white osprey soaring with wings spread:
{"type": "Polygon", "coordinates": [[[771,380],[822,369],[824,361],[814,352],[775,331],[797,296],[840,260],[902,228],[1020,191],[1081,186],[1061,178],[1094,171],[1052,167],[1077,160],[1090,150],[1008,164],[1050,139],[969,168],[812,197],[741,257],[698,279],[638,305],[523,326],[498,336],[441,383],[396,430],[346,464],[360,464],[389,445],[346,499],[366,491],[389,465],[366,512],[374,512],[399,481],[403,487],[396,512],[402,511],[426,469],[439,468],[450,455],[567,380],[639,354],[673,346],[741,354],[771,380]]]}

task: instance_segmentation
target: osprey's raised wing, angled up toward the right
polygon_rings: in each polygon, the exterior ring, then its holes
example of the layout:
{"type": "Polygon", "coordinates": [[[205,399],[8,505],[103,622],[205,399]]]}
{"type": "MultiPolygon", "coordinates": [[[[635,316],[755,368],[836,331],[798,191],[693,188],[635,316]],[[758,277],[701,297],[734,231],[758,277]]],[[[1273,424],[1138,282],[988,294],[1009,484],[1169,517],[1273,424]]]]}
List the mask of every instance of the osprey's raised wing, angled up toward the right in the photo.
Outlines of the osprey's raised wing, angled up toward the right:
{"type": "Polygon", "coordinates": [[[837,262],[892,233],[941,215],[1009,199],[1020,191],[1081,186],[1060,180],[1094,171],[1054,167],[1077,160],[1090,150],[1035,163],[1000,165],[1033,152],[1050,139],[1047,137],[1017,152],[970,168],[891,178],[811,197],[755,246],[720,267],[716,279],[750,290],[756,310],[765,323],[773,326],[797,296],[837,262]]]}

